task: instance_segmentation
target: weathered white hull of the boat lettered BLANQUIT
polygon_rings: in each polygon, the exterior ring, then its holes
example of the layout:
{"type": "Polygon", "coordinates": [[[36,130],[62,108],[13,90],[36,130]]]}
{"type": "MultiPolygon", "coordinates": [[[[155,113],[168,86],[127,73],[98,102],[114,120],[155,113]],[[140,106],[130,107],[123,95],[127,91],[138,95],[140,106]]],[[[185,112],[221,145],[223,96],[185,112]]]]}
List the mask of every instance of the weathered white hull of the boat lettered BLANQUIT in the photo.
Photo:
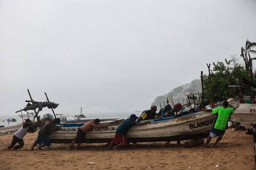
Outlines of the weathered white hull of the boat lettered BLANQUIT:
{"type": "MultiPolygon", "coordinates": [[[[232,106],[239,107],[238,102],[232,106]]],[[[200,111],[182,117],[167,117],[150,120],[152,123],[143,126],[134,126],[127,133],[129,142],[177,141],[203,139],[208,137],[216,115],[211,112],[200,111]]],[[[117,125],[108,128],[93,128],[86,133],[85,143],[108,143],[116,133],[117,125]]],[[[71,143],[76,137],[78,127],[61,127],[61,130],[51,133],[52,143],[71,143]]]]}

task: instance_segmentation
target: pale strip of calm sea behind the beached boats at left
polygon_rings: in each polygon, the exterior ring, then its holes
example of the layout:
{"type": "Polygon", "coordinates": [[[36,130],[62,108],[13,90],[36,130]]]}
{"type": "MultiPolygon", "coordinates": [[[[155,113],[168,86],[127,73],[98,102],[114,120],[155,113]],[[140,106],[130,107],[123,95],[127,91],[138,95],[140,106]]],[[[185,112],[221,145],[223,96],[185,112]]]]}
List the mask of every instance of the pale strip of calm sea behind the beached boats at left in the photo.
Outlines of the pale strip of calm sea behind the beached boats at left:
{"type": "MultiPolygon", "coordinates": [[[[53,115],[53,113],[51,113],[53,115]]],[[[96,119],[96,118],[121,118],[121,119],[127,119],[130,117],[131,114],[136,114],[137,116],[140,116],[141,112],[140,111],[126,111],[126,112],[106,112],[106,113],[83,113],[86,117],[90,119],[96,119]]],[[[43,114],[40,114],[42,116],[43,114]]],[[[78,115],[78,114],[76,114],[78,115]]],[[[74,116],[73,115],[66,115],[64,116],[74,116]]],[[[0,125],[4,125],[5,127],[8,126],[8,121],[6,120],[7,118],[14,118],[17,121],[16,122],[9,122],[9,125],[15,125],[18,123],[22,123],[22,118],[19,117],[18,115],[10,115],[10,116],[1,116],[0,115],[0,125]]]]}

